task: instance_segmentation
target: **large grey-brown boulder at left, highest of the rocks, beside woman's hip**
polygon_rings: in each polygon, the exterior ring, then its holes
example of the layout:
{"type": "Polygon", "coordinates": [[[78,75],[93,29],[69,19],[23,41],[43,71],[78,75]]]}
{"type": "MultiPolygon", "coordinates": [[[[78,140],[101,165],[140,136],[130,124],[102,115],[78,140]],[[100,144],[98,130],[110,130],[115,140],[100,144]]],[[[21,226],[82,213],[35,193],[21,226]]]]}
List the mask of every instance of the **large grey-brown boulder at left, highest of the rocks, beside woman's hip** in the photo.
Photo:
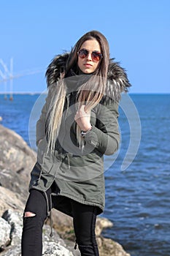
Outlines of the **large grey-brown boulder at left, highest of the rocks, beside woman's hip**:
{"type": "Polygon", "coordinates": [[[20,135],[0,125],[0,170],[12,170],[23,178],[25,186],[36,162],[36,154],[20,135]]]}

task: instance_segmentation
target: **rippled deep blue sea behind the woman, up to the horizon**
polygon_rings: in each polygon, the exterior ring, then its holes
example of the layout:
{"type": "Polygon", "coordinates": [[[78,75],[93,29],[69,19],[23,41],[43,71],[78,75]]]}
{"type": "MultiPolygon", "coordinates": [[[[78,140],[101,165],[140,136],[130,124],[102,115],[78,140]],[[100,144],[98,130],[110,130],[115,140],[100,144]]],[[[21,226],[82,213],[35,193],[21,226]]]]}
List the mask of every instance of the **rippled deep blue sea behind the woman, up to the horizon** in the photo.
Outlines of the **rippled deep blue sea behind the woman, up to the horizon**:
{"type": "MultiPolygon", "coordinates": [[[[0,94],[0,124],[35,150],[35,123],[44,100],[45,94],[13,94],[13,100],[0,94]]],[[[105,157],[101,214],[113,227],[102,234],[131,256],[169,256],[170,94],[128,94],[120,103],[120,150],[115,159],[105,157]]]]}

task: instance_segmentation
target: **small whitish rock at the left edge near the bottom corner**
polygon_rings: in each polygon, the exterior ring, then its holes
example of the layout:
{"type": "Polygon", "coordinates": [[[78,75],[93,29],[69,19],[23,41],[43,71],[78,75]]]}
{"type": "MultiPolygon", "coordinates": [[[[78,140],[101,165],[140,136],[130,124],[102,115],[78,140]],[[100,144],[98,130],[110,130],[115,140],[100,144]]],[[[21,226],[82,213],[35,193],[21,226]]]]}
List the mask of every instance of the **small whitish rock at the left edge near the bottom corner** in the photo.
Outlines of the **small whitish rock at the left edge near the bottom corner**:
{"type": "Polygon", "coordinates": [[[4,250],[4,248],[9,245],[11,239],[10,239],[10,232],[11,232],[11,226],[6,222],[3,218],[0,218],[0,248],[1,250],[4,250]]]}

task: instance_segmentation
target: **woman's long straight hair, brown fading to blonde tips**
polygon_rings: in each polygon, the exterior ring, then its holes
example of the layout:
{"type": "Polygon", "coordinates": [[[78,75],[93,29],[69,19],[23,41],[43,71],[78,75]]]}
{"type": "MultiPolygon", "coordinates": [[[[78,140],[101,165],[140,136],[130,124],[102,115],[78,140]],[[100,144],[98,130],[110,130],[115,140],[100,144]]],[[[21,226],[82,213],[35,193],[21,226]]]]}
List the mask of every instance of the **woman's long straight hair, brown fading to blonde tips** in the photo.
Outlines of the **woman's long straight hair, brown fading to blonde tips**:
{"type": "MultiPolygon", "coordinates": [[[[51,102],[50,108],[47,111],[47,138],[48,138],[48,149],[55,149],[55,142],[58,138],[59,129],[61,126],[61,118],[63,114],[63,106],[66,97],[66,78],[72,70],[75,74],[78,73],[77,66],[77,52],[83,42],[89,39],[96,39],[100,45],[101,53],[103,58],[98,65],[98,68],[90,79],[80,86],[77,92],[77,108],[80,108],[82,104],[86,105],[87,110],[93,109],[104,95],[105,86],[107,83],[107,72],[109,66],[109,44],[106,37],[99,31],[89,31],[84,34],[74,45],[69,58],[66,61],[66,68],[61,74],[61,78],[58,80],[58,84],[50,86],[51,102]]],[[[83,145],[83,138],[80,135],[80,127],[77,125],[77,142],[79,146],[83,145]]]]}

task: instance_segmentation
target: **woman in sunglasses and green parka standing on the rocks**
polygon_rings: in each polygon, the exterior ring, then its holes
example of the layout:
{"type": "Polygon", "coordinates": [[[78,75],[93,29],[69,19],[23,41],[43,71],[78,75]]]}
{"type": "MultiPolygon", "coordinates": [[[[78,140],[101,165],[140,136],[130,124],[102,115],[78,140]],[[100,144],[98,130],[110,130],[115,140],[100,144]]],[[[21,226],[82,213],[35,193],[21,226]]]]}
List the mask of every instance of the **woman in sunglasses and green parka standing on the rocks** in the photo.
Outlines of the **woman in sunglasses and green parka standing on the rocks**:
{"type": "Polygon", "coordinates": [[[48,94],[36,124],[37,162],[23,217],[22,255],[42,255],[51,208],[73,217],[81,255],[98,255],[96,216],[104,211],[104,154],[119,147],[117,108],[125,71],[109,59],[107,39],[84,34],[47,72],[48,94]]]}

